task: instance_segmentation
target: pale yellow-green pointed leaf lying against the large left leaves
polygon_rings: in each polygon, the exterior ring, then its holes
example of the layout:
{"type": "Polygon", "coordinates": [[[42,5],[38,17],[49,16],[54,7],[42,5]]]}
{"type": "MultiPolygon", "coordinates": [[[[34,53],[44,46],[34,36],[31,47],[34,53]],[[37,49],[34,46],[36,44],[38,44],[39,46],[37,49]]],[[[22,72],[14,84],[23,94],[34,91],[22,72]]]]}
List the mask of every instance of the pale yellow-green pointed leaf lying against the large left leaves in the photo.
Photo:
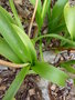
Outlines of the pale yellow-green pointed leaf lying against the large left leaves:
{"type": "Polygon", "coordinates": [[[34,49],[33,43],[31,42],[30,38],[24,33],[19,27],[15,24],[12,24],[12,27],[17,30],[18,36],[20,37],[21,41],[24,43],[26,47],[30,58],[32,59],[32,62],[36,61],[36,51],[34,49]]]}

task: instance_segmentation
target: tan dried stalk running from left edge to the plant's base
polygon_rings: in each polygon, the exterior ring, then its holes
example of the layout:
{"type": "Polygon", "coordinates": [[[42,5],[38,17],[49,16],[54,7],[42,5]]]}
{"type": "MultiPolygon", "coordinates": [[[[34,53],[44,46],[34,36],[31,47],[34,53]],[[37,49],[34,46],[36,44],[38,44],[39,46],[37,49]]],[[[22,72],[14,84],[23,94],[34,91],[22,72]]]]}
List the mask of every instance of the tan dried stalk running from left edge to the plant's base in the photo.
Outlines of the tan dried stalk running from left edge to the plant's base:
{"type": "Polygon", "coordinates": [[[4,60],[0,60],[0,64],[9,67],[9,68],[23,68],[23,67],[29,66],[30,63],[17,64],[17,63],[8,62],[8,61],[4,61],[4,60]]]}

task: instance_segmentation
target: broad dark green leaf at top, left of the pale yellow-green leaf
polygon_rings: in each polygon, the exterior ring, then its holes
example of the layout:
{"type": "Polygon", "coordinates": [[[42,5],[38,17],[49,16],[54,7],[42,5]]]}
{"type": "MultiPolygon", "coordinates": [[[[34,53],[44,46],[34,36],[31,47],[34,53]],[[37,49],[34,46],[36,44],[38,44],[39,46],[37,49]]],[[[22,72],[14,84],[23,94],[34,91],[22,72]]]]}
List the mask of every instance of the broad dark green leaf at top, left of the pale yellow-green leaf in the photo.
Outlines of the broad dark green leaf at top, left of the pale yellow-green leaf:
{"type": "Polygon", "coordinates": [[[52,9],[51,14],[47,12],[49,18],[49,33],[55,32],[60,33],[65,31],[65,21],[64,21],[64,7],[68,0],[57,0],[52,9]]]}

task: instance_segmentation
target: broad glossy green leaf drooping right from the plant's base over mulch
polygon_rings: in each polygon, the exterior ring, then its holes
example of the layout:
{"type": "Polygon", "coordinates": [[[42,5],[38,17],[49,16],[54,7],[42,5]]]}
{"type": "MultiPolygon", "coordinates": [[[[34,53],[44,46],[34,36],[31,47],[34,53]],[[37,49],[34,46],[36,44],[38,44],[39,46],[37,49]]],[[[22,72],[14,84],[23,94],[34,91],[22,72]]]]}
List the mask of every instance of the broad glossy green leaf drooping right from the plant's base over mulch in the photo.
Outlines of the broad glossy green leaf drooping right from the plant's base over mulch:
{"type": "Polygon", "coordinates": [[[66,73],[45,62],[36,62],[32,69],[42,78],[57,83],[58,86],[65,86],[65,81],[68,78],[66,73]]]}

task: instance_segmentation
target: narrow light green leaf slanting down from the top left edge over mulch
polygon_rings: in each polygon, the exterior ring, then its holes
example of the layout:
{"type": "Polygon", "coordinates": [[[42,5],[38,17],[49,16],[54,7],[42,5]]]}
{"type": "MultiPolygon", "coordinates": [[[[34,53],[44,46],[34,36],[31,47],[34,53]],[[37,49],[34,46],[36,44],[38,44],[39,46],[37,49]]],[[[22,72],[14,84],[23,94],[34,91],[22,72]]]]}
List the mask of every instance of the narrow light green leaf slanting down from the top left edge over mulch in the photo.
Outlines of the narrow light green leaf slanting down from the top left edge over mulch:
{"type": "Polygon", "coordinates": [[[10,3],[11,10],[13,12],[13,16],[15,18],[18,26],[23,30],[22,23],[20,21],[20,18],[19,18],[17,10],[15,10],[15,7],[14,7],[13,0],[9,0],[9,3],[10,3]]]}

